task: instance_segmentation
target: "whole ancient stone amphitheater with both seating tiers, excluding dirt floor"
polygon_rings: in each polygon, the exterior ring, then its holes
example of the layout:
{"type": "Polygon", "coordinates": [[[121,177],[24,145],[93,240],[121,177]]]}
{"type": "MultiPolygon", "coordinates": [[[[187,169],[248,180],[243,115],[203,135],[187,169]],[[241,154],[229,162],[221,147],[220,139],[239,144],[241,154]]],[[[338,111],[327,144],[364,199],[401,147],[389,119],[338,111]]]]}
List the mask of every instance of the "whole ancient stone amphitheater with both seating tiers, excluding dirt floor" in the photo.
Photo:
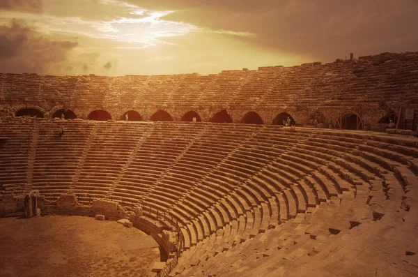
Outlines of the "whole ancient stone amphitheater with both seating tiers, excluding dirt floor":
{"type": "Polygon", "coordinates": [[[155,276],[417,276],[414,109],[418,52],[1,74],[0,216],[125,218],[167,254],[155,276]]]}

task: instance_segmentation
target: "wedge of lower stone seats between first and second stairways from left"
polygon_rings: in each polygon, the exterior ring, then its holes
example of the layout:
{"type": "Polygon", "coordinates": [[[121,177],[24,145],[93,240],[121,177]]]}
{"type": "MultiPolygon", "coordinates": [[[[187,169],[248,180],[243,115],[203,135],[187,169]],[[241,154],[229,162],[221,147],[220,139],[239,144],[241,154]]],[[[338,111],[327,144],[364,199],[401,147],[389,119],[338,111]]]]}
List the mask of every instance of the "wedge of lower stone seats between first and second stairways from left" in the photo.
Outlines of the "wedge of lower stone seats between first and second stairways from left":
{"type": "Polygon", "coordinates": [[[94,126],[88,121],[69,121],[65,124],[59,121],[40,122],[33,189],[39,190],[51,201],[68,193],[94,126]],[[65,126],[62,137],[59,136],[61,126],[65,126]]]}

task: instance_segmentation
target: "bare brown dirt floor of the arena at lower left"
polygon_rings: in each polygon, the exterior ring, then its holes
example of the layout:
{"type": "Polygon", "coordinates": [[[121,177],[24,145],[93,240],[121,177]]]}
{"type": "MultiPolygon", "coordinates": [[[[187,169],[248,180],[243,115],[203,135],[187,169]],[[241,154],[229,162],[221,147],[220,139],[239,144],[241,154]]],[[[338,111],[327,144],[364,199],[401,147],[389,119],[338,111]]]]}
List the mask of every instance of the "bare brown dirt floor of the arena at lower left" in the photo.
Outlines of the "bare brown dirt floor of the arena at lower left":
{"type": "Polygon", "coordinates": [[[154,276],[159,248],[124,251],[118,243],[145,236],[82,216],[0,218],[0,276],[154,276]]]}

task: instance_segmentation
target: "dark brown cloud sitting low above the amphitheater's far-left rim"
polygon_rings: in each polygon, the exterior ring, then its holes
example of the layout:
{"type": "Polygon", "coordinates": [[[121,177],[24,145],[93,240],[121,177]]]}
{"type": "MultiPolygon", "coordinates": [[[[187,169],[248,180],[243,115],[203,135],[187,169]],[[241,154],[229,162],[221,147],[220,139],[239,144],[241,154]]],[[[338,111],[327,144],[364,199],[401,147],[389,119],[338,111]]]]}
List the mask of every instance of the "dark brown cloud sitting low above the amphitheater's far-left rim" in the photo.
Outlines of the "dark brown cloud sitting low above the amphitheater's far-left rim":
{"type": "Polygon", "coordinates": [[[1,73],[61,73],[68,70],[68,53],[77,46],[70,41],[49,40],[24,22],[12,20],[0,26],[1,73]]]}

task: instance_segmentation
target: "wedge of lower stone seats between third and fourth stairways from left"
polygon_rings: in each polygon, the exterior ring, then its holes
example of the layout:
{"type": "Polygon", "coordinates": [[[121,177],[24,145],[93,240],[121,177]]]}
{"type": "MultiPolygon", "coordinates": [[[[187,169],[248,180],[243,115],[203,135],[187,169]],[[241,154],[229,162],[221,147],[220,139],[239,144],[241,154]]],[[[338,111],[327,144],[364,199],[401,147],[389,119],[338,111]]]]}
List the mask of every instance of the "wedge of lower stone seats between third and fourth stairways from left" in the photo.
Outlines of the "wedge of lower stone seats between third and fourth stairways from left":
{"type": "MultiPolygon", "coordinates": [[[[129,165],[125,165],[126,169],[110,197],[114,200],[123,200],[123,204],[129,207],[133,207],[144,197],[151,197],[155,201],[150,205],[162,209],[164,206],[157,204],[159,200],[165,204],[167,200],[171,201],[171,198],[161,200],[164,197],[163,190],[157,197],[149,194],[154,186],[161,186],[164,174],[169,172],[196,133],[203,128],[203,126],[190,127],[192,128],[185,128],[181,123],[152,124],[138,142],[137,149],[132,153],[132,160],[129,165]]],[[[174,193],[175,190],[172,192],[174,193]]]]}

